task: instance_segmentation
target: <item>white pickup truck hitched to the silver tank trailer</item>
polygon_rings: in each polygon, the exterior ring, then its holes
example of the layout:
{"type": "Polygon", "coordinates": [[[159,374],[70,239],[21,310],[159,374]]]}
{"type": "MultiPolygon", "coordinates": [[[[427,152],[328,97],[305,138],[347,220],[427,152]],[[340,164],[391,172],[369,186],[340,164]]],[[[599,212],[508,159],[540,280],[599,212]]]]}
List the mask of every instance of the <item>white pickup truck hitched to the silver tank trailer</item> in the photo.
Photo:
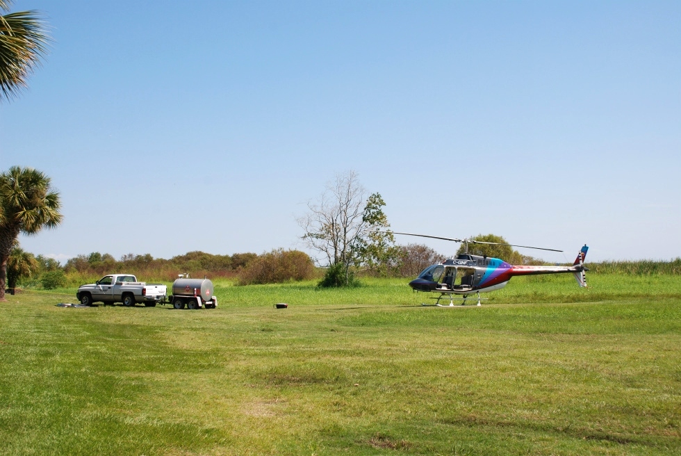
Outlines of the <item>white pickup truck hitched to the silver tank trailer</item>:
{"type": "Polygon", "coordinates": [[[126,307],[144,302],[145,306],[154,307],[158,302],[165,301],[165,293],[165,285],[138,282],[137,277],[131,274],[110,274],[94,284],[79,286],[76,299],[88,306],[101,301],[104,304],[122,302],[126,307]]]}

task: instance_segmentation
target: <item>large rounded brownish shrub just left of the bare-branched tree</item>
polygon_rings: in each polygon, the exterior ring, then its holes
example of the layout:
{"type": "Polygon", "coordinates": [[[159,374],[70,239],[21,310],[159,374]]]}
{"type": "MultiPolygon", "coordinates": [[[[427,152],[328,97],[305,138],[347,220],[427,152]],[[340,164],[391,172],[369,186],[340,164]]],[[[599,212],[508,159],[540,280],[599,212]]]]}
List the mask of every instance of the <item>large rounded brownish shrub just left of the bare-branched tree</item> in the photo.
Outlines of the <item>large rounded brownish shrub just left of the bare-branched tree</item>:
{"type": "Polygon", "coordinates": [[[278,284],[311,279],[312,260],[300,250],[272,250],[250,261],[239,275],[239,284],[278,284]]]}

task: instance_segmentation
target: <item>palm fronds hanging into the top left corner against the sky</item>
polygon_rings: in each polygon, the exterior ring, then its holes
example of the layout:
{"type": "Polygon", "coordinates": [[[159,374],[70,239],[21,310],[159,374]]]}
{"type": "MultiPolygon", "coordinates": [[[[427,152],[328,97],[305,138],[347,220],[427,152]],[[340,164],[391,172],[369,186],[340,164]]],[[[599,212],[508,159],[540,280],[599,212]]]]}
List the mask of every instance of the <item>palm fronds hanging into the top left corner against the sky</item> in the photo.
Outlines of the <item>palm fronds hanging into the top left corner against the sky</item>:
{"type": "MultiPolygon", "coordinates": [[[[0,13],[12,0],[0,0],[0,13]]],[[[47,54],[49,35],[36,11],[0,15],[0,101],[26,88],[26,79],[47,54]]]]}

